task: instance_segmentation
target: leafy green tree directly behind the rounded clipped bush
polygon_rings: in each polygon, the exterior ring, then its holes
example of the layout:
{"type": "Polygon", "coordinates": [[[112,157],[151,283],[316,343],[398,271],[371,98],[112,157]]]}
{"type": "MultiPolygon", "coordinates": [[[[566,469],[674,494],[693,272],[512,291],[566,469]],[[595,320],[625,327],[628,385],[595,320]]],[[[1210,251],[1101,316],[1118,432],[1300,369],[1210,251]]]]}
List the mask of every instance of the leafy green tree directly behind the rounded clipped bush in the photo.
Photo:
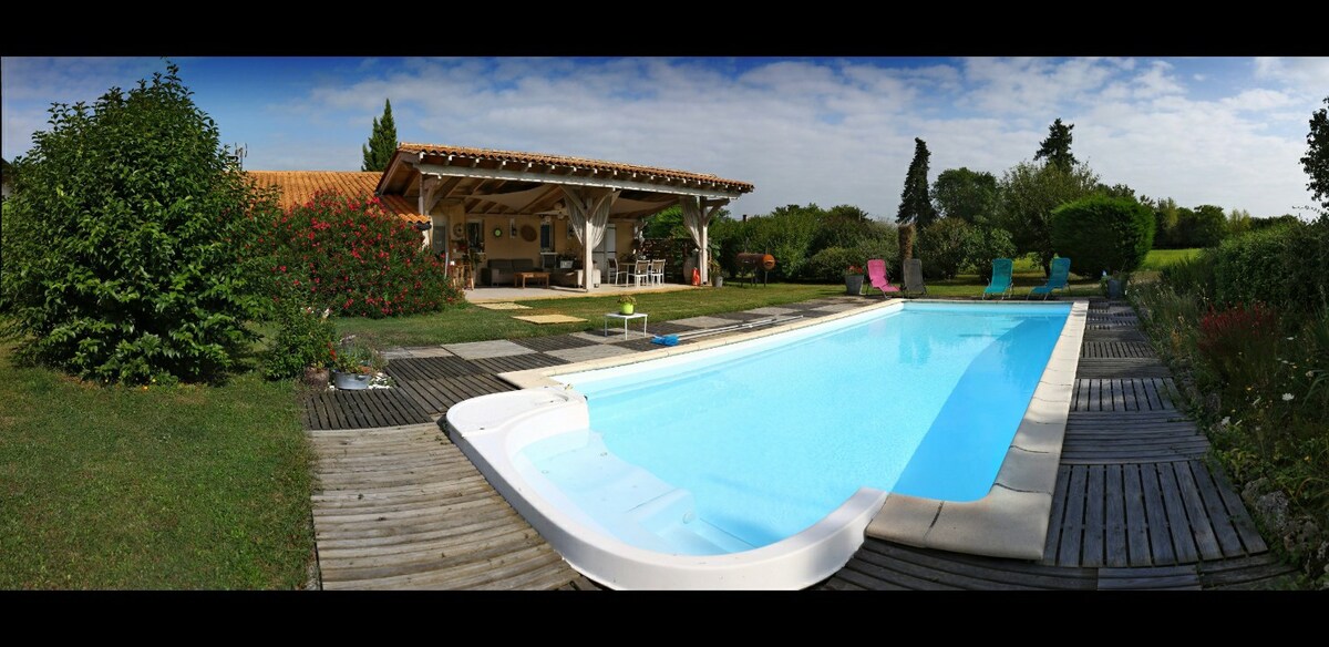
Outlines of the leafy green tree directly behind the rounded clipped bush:
{"type": "Polygon", "coordinates": [[[1057,251],[1049,230],[1053,210],[1091,195],[1098,174],[1084,163],[1063,170],[1054,163],[1021,162],[1002,175],[999,187],[1001,229],[1010,231],[1018,254],[1038,255],[1046,272],[1057,251]]]}

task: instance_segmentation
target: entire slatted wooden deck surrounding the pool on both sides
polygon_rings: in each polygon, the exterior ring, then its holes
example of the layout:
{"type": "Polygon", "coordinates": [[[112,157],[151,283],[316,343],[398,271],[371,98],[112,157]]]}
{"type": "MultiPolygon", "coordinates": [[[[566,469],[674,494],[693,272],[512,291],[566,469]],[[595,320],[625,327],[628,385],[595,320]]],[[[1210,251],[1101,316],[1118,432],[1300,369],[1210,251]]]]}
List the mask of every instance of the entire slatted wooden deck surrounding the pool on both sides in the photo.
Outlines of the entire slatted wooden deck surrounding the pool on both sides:
{"type": "MultiPolygon", "coordinates": [[[[855,303],[861,302],[831,298],[780,308],[812,318],[855,303]]],[[[1268,551],[1221,472],[1205,464],[1208,441],[1176,409],[1172,377],[1136,323],[1123,304],[1090,307],[1042,559],[869,538],[819,587],[1257,589],[1292,573],[1268,551]]],[[[424,356],[389,363],[397,388],[312,396],[306,425],[316,454],[323,586],[598,589],[567,567],[431,420],[468,397],[510,389],[498,372],[562,364],[567,360],[557,353],[602,343],[661,348],[642,337],[556,335],[516,340],[502,355],[477,359],[423,349],[424,356]]]]}

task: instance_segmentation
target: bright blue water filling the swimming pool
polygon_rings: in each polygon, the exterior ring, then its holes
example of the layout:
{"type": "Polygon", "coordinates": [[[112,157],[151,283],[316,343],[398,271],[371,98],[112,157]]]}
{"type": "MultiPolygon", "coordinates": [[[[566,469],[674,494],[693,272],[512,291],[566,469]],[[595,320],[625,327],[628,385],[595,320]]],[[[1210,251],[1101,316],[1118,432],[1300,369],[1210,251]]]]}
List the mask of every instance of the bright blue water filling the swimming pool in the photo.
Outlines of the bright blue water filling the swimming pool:
{"type": "Polygon", "coordinates": [[[791,537],[859,488],[982,498],[1070,304],[909,303],[557,376],[591,429],[522,449],[609,533],[679,554],[791,537]]]}

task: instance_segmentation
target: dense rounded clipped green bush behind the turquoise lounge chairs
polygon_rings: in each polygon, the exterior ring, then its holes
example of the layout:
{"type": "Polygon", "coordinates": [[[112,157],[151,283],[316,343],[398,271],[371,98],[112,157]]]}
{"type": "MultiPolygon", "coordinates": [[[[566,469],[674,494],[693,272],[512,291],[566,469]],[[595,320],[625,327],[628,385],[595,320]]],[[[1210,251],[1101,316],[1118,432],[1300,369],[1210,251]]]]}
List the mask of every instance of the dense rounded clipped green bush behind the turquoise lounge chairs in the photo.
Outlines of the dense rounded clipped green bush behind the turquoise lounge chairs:
{"type": "Polygon", "coordinates": [[[1080,276],[1134,271],[1154,244],[1154,211],[1128,198],[1092,195],[1053,210],[1053,248],[1080,276]]]}

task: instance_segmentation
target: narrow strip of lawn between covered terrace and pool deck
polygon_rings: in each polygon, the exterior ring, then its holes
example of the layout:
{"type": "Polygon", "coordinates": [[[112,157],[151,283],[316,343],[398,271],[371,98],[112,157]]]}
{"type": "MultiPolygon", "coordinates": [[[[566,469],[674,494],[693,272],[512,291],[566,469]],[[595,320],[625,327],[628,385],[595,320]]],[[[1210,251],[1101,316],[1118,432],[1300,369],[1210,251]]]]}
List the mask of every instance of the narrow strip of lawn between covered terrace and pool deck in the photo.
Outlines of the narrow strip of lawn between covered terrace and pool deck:
{"type": "MultiPolygon", "coordinates": [[[[634,295],[637,312],[650,315],[650,323],[684,319],[716,312],[779,306],[821,296],[843,295],[844,286],[772,283],[768,286],[726,284],[722,288],[649,292],[634,295]]],[[[476,306],[395,319],[343,318],[338,331],[356,335],[375,348],[393,345],[436,345],[490,339],[521,339],[601,329],[606,312],[618,311],[618,296],[524,300],[530,310],[485,310],[476,306]],[[514,315],[569,315],[585,323],[533,324],[513,319],[514,315]]],[[[615,322],[617,325],[622,325],[615,322]]]]}

